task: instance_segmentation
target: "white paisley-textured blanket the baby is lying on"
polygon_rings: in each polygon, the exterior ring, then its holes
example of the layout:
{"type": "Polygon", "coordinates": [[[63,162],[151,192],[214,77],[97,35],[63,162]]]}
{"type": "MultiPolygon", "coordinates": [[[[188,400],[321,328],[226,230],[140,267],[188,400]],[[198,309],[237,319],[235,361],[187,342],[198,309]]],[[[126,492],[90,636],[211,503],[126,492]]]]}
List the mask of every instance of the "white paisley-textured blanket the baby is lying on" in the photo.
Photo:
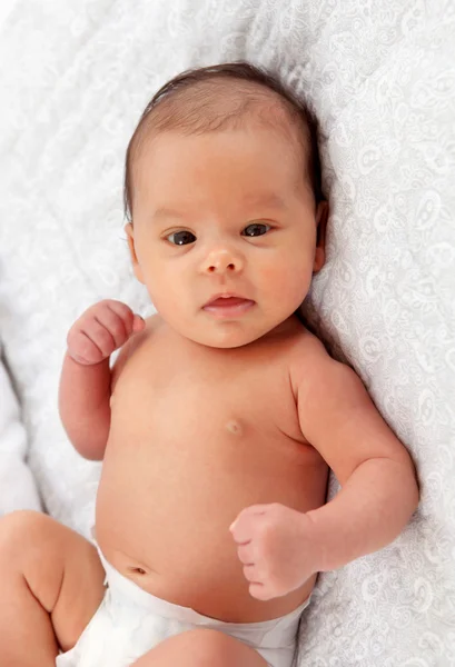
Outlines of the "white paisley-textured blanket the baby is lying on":
{"type": "Polygon", "coordinates": [[[189,66],[248,58],[316,110],[332,216],[306,310],[413,452],[422,504],[320,577],[305,667],[455,665],[454,30],[454,0],[17,0],[0,33],[0,330],[47,507],[86,535],[99,465],[65,438],[58,376],[89,303],[149,309],[121,212],[142,108],[189,66]]]}

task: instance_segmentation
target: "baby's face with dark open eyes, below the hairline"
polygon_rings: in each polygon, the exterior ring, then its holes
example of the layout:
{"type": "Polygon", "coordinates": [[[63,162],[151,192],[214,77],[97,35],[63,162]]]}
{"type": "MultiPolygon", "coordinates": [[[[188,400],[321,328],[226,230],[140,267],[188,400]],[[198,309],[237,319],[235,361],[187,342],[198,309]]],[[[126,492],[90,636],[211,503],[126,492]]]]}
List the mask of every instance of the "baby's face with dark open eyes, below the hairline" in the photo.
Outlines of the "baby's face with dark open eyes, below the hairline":
{"type": "Polygon", "coordinates": [[[267,129],[149,139],[127,232],[137,278],[178,334],[238,347],[298,308],[318,215],[301,169],[289,140],[267,129]]]}

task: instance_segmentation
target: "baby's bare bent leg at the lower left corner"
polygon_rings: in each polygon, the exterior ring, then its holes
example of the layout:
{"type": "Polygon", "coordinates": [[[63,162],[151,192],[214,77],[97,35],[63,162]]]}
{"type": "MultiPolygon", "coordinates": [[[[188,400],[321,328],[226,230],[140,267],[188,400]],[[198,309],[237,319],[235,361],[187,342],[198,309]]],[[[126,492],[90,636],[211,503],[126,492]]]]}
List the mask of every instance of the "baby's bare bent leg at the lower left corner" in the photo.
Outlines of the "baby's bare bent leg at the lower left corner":
{"type": "Polygon", "coordinates": [[[50,517],[0,519],[1,664],[55,667],[99,607],[103,579],[96,548],[50,517]]]}

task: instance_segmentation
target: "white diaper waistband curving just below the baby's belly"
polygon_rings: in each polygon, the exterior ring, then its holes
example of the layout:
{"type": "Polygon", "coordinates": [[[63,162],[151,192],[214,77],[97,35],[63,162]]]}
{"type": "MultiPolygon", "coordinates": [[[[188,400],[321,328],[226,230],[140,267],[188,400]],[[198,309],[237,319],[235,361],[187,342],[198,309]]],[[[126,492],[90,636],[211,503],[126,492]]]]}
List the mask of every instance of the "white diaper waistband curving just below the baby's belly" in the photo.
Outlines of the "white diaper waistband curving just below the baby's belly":
{"type": "Polygon", "coordinates": [[[224,620],[219,620],[216,618],[210,618],[208,616],[204,616],[198,611],[195,611],[190,607],[181,607],[179,605],[175,605],[174,603],[169,603],[162,598],[158,598],[155,595],[144,590],[140,586],[128,579],[123,575],[121,575],[108,560],[106,560],[100,548],[98,548],[98,554],[101,559],[102,566],[106,570],[106,580],[105,583],[109,586],[110,595],[112,596],[112,601],[115,598],[121,597],[122,605],[137,605],[148,613],[156,614],[164,618],[169,618],[177,621],[190,623],[197,626],[210,626],[210,628],[222,627],[225,631],[231,633],[236,630],[260,630],[268,635],[269,630],[280,630],[281,641],[289,640],[289,643],[295,639],[295,635],[297,631],[297,625],[299,621],[299,617],[304,609],[309,605],[310,596],[296,609],[281,616],[279,618],[273,618],[270,620],[263,620],[258,623],[227,623],[224,620]],[[286,631],[288,630],[288,633],[286,631]],[[289,638],[284,635],[289,634],[289,638]]]}

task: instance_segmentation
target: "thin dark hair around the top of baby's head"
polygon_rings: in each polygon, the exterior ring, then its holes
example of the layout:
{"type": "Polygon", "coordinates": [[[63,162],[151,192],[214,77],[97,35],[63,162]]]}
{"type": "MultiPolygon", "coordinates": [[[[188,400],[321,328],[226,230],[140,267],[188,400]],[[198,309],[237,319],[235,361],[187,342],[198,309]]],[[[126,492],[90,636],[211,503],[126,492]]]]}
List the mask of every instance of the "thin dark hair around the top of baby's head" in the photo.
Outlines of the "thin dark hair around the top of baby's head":
{"type": "MultiPolygon", "coordinates": [[[[297,98],[297,96],[287,89],[285,84],[281,83],[281,81],[270,72],[244,61],[227,62],[191,69],[178,74],[165,83],[165,86],[162,86],[158,92],[155,93],[147,104],[131,137],[126,156],[123,205],[125,215],[128,220],[131,219],[132,215],[132,162],[138,145],[144,136],[144,129],[147,125],[147,121],[150,120],[150,117],[152,117],[156,109],[158,107],[160,108],[165,100],[172,100],[174,96],[179,98],[181,92],[187,91],[192,87],[197,87],[200,83],[204,84],[207,81],[219,82],[220,79],[237,79],[248,83],[257,83],[267,88],[268,90],[274,91],[279,96],[279,98],[281,98],[280,102],[283,103],[285,111],[291,118],[291,120],[294,120],[295,125],[299,125],[301,129],[303,145],[307,156],[306,167],[316,205],[324,199],[322,192],[320,160],[317,145],[318,128],[314,113],[303,100],[297,98]]],[[[202,91],[202,94],[205,94],[205,100],[207,100],[207,91],[202,91]]],[[[216,130],[222,127],[222,125],[226,122],[233,121],[234,116],[238,118],[239,111],[240,113],[244,112],[247,104],[248,100],[246,104],[244,104],[243,109],[236,109],[235,115],[229,116],[229,113],[225,113],[222,115],[222,118],[217,118],[215,123],[212,120],[207,122],[204,120],[204,118],[200,118],[200,108],[192,109],[192,113],[190,110],[190,112],[186,116],[182,116],[181,113],[179,115],[178,112],[175,112],[175,110],[169,109],[169,112],[166,113],[166,116],[158,118],[156,125],[151,127],[157,131],[184,127],[190,132],[192,131],[195,133],[216,130]]]]}

